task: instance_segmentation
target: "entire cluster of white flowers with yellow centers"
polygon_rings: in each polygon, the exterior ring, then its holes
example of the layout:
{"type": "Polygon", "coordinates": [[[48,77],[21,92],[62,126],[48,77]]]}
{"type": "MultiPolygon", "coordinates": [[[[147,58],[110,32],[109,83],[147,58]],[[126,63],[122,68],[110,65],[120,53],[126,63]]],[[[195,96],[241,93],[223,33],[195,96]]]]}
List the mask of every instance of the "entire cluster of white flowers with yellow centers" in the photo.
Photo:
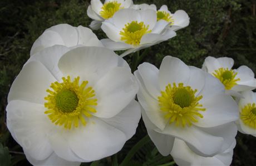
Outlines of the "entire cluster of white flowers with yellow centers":
{"type": "Polygon", "coordinates": [[[131,0],[92,0],[89,28],[45,30],[8,94],[7,126],[33,165],[80,165],[115,154],[142,120],[178,165],[229,165],[235,136],[256,137],[256,88],[247,66],[207,57],[202,69],[165,56],[132,74],[122,58],[175,37],[186,12],[131,0]],[[114,50],[126,50],[117,55],[114,50]],[[137,95],[137,100],[135,97],[137,95]]]}

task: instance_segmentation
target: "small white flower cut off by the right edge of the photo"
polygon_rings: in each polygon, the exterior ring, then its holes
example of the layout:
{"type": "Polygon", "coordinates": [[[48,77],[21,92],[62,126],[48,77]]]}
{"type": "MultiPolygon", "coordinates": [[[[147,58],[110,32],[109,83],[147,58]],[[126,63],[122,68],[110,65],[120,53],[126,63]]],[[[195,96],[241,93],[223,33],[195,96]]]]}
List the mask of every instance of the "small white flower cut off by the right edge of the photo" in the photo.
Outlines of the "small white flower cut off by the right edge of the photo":
{"type": "Polygon", "coordinates": [[[238,131],[256,137],[256,92],[242,92],[244,98],[238,102],[240,118],[237,121],[238,131]]]}

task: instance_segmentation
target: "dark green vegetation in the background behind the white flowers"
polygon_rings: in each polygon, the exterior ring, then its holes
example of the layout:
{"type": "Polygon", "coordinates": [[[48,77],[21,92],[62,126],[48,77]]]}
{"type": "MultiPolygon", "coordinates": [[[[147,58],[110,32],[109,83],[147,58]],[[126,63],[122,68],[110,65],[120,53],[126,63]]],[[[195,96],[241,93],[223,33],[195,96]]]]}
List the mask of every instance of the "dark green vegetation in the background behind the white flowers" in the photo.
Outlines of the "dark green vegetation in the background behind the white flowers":
{"type": "MultiPolygon", "coordinates": [[[[235,68],[247,65],[256,72],[256,1],[134,1],[142,2],[155,3],[158,8],[166,4],[171,12],[183,9],[190,16],[189,27],[179,30],[177,36],[168,42],[149,48],[142,61],[159,67],[165,55],[173,55],[188,65],[200,68],[206,56],[229,56],[235,60],[235,68]]],[[[33,42],[43,30],[55,24],[87,27],[91,22],[86,15],[89,3],[78,0],[0,1],[0,165],[9,165],[10,160],[12,165],[29,165],[22,148],[8,132],[5,108],[9,88],[29,58],[33,42]]],[[[95,33],[99,39],[105,38],[101,30],[95,33]]],[[[131,56],[125,59],[131,62],[131,56]]],[[[140,122],[135,136],[125,144],[122,151],[100,160],[99,165],[115,165],[116,161],[121,163],[130,149],[145,135],[144,124],[140,122]]],[[[255,140],[255,137],[238,134],[232,165],[255,165],[255,140]]],[[[148,139],[135,155],[130,155],[130,165],[161,165],[172,161],[170,156],[162,157],[148,139]]]]}

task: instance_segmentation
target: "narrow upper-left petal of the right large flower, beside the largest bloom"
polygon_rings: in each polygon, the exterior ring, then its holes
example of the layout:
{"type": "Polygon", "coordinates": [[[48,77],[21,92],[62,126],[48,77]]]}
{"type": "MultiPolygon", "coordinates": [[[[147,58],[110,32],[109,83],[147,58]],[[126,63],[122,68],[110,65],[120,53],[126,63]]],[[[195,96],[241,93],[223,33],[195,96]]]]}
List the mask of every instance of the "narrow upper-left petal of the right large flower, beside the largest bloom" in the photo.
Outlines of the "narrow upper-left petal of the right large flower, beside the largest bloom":
{"type": "Polygon", "coordinates": [[[141,84],[144,84],[151,97],[157,100],[157,97],[161,95],[158,82],[159,69],[150,63],[143,63],[138,66],[138,71],[143,81],[141,84]]]}

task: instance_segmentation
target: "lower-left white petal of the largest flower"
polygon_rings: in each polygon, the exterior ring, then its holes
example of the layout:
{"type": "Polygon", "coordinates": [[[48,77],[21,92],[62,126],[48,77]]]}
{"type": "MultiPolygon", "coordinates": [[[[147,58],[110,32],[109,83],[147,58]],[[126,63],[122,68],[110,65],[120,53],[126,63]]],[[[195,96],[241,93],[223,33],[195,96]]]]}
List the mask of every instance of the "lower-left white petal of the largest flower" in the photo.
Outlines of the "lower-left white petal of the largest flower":
{"type": "Polygon", "coordinates": [[[52,124],[44,113],[46,108],[37,103],[12,100],[6,110],[7,126],[11,124],[9,130],[24,151],[37,160],[46,159],[53,152],[47,137],[52,124]]]}

